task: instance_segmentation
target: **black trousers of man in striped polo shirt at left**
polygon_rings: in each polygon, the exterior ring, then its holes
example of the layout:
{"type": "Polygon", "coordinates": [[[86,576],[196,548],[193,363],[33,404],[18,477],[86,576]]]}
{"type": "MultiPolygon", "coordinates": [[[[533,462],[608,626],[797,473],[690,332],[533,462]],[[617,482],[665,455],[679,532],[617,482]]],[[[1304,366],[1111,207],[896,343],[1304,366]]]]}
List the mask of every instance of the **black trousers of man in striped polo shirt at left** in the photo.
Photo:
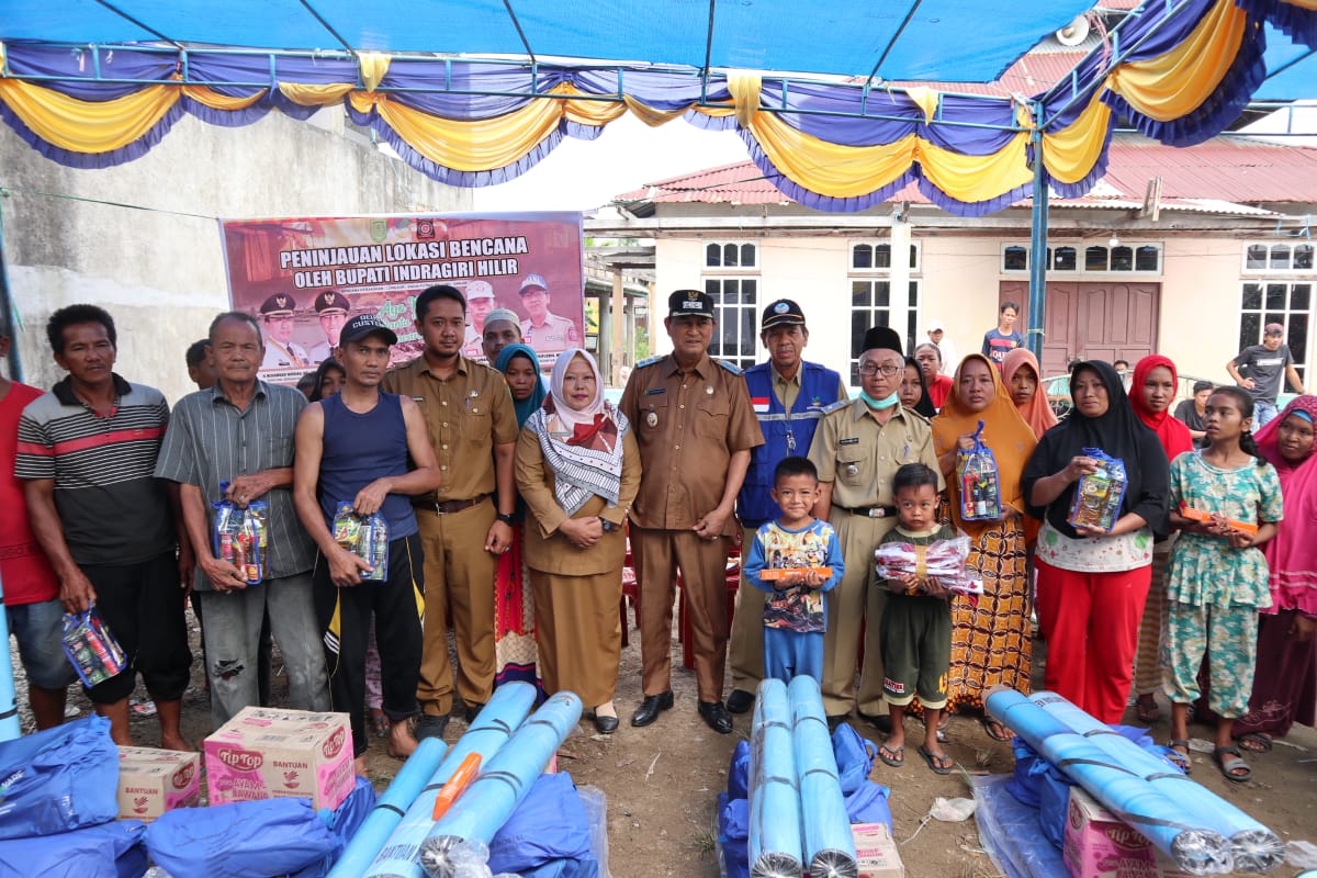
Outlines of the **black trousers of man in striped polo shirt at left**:
{"type": "Polygon", "coordinates": [[[87,690],[94,704],[113,704],[133,694],[137,674],[157,702],[183,698],[191,677],[183,588],[173,552],[124,565],[87,565],[96,590],[96,612],[128,657],[128,667],[87,690]]]}

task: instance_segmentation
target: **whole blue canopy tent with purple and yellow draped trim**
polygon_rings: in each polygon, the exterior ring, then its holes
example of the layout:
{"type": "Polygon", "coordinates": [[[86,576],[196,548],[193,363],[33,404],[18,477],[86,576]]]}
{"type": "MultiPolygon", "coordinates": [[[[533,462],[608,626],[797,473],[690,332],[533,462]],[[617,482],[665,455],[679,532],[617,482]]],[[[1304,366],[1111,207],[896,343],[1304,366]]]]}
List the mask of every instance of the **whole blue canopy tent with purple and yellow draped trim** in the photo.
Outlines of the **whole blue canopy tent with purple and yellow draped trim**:
{"type": "Polygon", "coordinates": [[[95,168],[184,115],[237,126],[338,104],[454,186],[512,179],[628,112],[680,117],[736,130],[766,179],[819,211],[910,183],[963,216],[1033,196],[1042,247],[1048,192],[1085,194],[1118,122],[1192,145],[1259,90],[1317,96],[1317,0],[1146,0],[1047,92],[938,90],[993,80],[1090,3],[0,0],[0,117],[95,168]],[[910,82],[927,84],[894,84],[910,82]]]}

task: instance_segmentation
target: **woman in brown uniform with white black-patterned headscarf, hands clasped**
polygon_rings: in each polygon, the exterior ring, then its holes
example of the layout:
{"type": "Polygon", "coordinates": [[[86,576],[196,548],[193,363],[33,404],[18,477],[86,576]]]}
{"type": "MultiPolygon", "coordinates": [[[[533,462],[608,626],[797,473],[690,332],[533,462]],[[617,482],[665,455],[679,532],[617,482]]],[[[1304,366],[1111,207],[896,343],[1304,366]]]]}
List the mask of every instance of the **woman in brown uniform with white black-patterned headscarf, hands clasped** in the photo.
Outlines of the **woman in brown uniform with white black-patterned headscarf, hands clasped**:
{"type": "Polygon", "coordinates": [[[640,487],[640,454],[627,417],[605,400],[589,353],[573,348],[558,355],[549,394],[516,442],[540,673],[545,692],[576,692],[594,708],[599,733],[611,735],[623,525],[640,487]]]}

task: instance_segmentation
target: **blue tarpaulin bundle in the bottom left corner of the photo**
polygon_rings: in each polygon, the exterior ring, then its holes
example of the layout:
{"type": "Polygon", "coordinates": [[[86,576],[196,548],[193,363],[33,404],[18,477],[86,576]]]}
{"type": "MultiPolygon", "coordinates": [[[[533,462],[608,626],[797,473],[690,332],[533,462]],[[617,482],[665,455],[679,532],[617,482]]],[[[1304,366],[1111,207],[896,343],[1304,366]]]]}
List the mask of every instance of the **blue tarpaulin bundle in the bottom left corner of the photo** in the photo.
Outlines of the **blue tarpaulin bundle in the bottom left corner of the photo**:
{"type": "Polygon", "coordinates": [[[146,871],[145,829],[138,820],[112,820],[54,836],[0,841],[0,878],[141,878],[146,871]]]}

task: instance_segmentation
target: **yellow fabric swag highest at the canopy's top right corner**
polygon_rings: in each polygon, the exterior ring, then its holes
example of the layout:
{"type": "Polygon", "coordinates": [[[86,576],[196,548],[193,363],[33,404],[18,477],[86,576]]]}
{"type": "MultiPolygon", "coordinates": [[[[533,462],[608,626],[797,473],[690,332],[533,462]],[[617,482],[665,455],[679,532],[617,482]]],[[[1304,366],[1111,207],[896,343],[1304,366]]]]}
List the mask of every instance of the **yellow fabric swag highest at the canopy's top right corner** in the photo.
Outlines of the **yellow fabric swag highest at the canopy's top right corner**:
{"type": "Polygon", "coordinates": [[[1217,0],[1180,45],[1156,58],[1117,66],[1106,86],[1159,122],[1188,116],[1221,84],[1250,26],[1234,0],[1217,0]]]}

